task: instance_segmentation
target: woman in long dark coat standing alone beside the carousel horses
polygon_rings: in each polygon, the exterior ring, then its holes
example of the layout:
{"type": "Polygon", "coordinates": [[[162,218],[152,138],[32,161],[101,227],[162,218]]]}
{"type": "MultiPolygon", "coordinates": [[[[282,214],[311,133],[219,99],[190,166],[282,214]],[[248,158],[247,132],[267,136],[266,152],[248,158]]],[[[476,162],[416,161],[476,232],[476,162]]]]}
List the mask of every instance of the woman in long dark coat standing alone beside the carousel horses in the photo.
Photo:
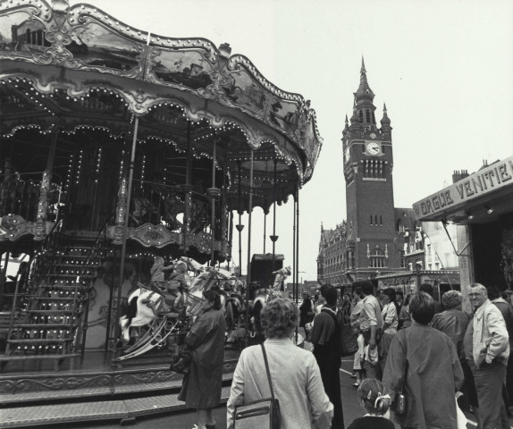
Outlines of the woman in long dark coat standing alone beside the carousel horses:
{"type": "Polygon", "coordinates": [[[205,290],[201,313],[185,337],[187,347],[192,350],[192,362],[189,374],[183,378],[178,399],[184,400],[188,408],[196,408],[198,429],[214,429],[212,408],[221,401],[226,324],[220,310],[219,294],[205,290]]]}

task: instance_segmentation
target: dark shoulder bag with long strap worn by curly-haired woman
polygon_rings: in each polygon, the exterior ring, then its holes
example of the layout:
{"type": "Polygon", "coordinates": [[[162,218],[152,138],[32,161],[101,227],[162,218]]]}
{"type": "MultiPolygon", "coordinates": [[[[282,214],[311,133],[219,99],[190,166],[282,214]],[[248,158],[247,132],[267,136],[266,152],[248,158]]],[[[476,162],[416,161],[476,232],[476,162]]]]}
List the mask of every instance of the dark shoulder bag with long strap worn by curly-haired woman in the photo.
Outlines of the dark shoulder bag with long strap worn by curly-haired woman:
{"type": "Polygon", "coordinates": [[[262,353],[265,360],[265,371],[267,380],[271,388],[271,398],[265,400],[254,400],[248,404],[241,404],[235,407],[235,417],[233,419],[234,429],[280,429],[280,402],[274,398],[273,383],[271,382],[271,373],[267,363],[264,344],[262,353]]]}

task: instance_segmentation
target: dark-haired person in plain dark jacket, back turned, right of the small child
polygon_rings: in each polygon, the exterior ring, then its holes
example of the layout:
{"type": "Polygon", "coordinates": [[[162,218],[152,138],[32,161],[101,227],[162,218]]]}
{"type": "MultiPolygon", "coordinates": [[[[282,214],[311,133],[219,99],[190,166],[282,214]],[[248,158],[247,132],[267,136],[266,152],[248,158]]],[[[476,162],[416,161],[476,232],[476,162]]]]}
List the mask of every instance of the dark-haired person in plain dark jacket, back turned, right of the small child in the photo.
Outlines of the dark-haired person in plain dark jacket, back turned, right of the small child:
{"type": "Polygon", "coordinates": [[[391,398],[402,386],[407,400],[406,414],[394,413],[393,420],[402,429],[454,429],[455,393],[463,383],[458,352],[447,335],[429,325],[435,311],[432,297],[414,294],[409,310],[413,323],[391,341],[383,374],[391,398]]]}

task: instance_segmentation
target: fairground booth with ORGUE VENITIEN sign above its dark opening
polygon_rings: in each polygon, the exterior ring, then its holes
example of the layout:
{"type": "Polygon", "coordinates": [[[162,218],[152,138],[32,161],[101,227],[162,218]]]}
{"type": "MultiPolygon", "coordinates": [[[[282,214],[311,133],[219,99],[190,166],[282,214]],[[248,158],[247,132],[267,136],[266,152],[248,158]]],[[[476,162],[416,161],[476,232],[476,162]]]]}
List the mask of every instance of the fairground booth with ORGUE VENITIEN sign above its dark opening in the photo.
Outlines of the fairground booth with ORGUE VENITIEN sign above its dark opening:
{"type": "Polygon", "coordinates": [[[455,172],[447,188],[413,205],[416,219],[457,225],[461,291],[472,282],[511,290],[513,285],[513,156],[477,172],[455,172]]]}

